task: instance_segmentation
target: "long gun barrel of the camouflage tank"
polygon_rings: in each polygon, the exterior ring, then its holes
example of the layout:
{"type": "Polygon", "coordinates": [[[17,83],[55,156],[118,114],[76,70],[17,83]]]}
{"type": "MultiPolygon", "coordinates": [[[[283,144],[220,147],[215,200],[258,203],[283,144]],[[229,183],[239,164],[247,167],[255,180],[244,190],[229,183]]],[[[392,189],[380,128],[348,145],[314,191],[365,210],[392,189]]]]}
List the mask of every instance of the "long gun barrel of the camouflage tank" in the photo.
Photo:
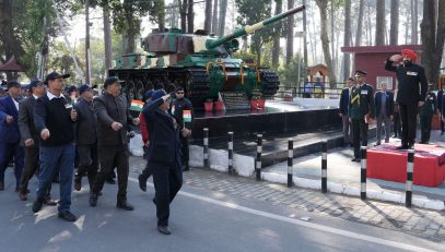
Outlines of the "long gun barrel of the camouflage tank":
{"type": "Polygon", "coordinates": [[[242,36],[246,35],[246,34],[255,33],[257,29],[260,29],[266,25],[270,25],[270,24],[272,24],[272,23],[274,23],[277,21],[283,20],[283,19],[285,19],[285,17],[288,17],[290,15],[295,14],[296,12],[303,11],[304,9],[305,9],[304,5],[296,7],[294,9],[291,9],[291,10],[286,11],[286,12],[278,14],[278,15],[272,16],[270,19],[267,19],[265,21],[258,22],[258,23],[256,23],[254,25],[246,25],[246,26],[244,26],[242,28],[237,28],[237,29],[235,29],[234,33],[229,34],[226,36],[223,36],[223,37],[220,37],[220,38],[213,39],[213,40],[209,39],[206,43],[206,47],[207,47],[207,49],[215,48],[215,47],[218,47],[218,46],[220,46],[220,45],[222,45],[222,44],[224,44],[226,41],[230,41],[230,40],[232,40],[234,38],[242,37],[242,36]]]}

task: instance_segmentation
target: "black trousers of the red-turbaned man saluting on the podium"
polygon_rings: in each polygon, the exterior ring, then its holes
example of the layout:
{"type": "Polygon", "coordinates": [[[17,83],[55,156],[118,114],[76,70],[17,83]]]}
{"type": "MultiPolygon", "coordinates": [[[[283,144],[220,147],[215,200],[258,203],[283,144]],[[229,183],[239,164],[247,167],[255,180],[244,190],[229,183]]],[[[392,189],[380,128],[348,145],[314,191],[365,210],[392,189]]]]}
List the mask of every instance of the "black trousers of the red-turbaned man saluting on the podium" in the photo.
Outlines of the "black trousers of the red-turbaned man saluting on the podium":
{"type": "Polygon", "coordinates": [[[401,120],[401,144],[411,145],[415,142],[415,127],[418,116],[418,104],[400,105],[400,120],[401,120]]]}

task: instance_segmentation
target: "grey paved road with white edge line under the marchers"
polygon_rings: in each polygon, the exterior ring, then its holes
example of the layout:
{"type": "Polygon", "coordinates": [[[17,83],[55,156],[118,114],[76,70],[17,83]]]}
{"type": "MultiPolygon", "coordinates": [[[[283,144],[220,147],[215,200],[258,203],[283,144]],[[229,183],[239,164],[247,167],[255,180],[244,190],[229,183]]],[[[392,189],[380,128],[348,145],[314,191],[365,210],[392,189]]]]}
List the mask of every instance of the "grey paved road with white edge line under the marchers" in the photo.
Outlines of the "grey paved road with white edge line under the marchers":
{"type": "MultiPolygon", "coordinates": [[[[445,251],[443,241],[206,187],[215,176],[219,185],[248,187],[247,192],[281,185],[199,169],[185,175],[173,204],[174,233],[163,236],[155,229],[153,188],[143,193],[134,179],[141,166],[132,158],[128,191],[134,212],[116,209],[116,185],[106,185],[96,208],[87,205],[83,189],[73,193],[72,211],[79,216],[73,224],[58,219],[55,207],[33,214],[32,201],[21,202],[9,183],[0,192],[0,251],[445,251]]],[[[12,181],[11,169],[7,181],[12,181]]]]}

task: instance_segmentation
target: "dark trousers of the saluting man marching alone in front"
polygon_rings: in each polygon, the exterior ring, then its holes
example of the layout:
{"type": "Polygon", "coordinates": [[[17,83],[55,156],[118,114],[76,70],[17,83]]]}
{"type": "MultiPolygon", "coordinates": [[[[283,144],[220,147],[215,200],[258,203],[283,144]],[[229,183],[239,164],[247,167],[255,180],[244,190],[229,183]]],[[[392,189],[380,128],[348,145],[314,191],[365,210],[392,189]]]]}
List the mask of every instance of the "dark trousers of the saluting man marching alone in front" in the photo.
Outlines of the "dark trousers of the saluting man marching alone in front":
{"type": "Polygon", "coordinates": [[[153,171],[157,226],[168,226],[169,204],[183,187],[183,171],[178,166],[150,166],[153,171]]]}

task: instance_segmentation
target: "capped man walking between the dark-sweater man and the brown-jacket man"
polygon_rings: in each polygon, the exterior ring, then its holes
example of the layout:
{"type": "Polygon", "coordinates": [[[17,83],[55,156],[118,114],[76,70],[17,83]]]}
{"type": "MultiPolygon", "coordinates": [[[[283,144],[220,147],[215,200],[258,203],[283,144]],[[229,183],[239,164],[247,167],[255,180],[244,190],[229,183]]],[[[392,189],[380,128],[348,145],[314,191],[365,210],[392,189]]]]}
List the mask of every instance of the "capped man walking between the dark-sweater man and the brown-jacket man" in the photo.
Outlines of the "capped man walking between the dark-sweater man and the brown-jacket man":
{"type": "Polygon", "coordinates": [[[94,179],[98,169],[97,155],[97,117],[93,107],[93,89],[87,84],[79,87],[81,99],[74,105],[78,111],[78,123],[74,129],[74,139],[78,154],[79,167],[74,176],[74,189],[82,188],[82,177],[86,173],[92,190],[94,179]]]}

